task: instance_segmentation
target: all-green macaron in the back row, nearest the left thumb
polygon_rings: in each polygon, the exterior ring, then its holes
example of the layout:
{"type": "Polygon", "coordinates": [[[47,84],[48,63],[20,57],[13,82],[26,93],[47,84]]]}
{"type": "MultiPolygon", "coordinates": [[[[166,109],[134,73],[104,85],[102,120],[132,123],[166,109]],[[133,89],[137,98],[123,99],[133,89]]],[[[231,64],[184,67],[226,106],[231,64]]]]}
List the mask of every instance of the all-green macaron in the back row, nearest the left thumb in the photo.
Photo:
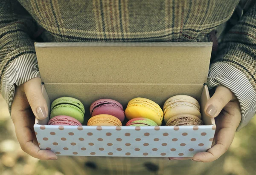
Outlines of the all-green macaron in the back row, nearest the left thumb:
{"type": "Polygon", "coordinates": [[[72,97],[61,97],[52,102],[50,118],[58,115],[66,115],[83,123],[84,112],[84,105],[80,100],[72,97]]]}

